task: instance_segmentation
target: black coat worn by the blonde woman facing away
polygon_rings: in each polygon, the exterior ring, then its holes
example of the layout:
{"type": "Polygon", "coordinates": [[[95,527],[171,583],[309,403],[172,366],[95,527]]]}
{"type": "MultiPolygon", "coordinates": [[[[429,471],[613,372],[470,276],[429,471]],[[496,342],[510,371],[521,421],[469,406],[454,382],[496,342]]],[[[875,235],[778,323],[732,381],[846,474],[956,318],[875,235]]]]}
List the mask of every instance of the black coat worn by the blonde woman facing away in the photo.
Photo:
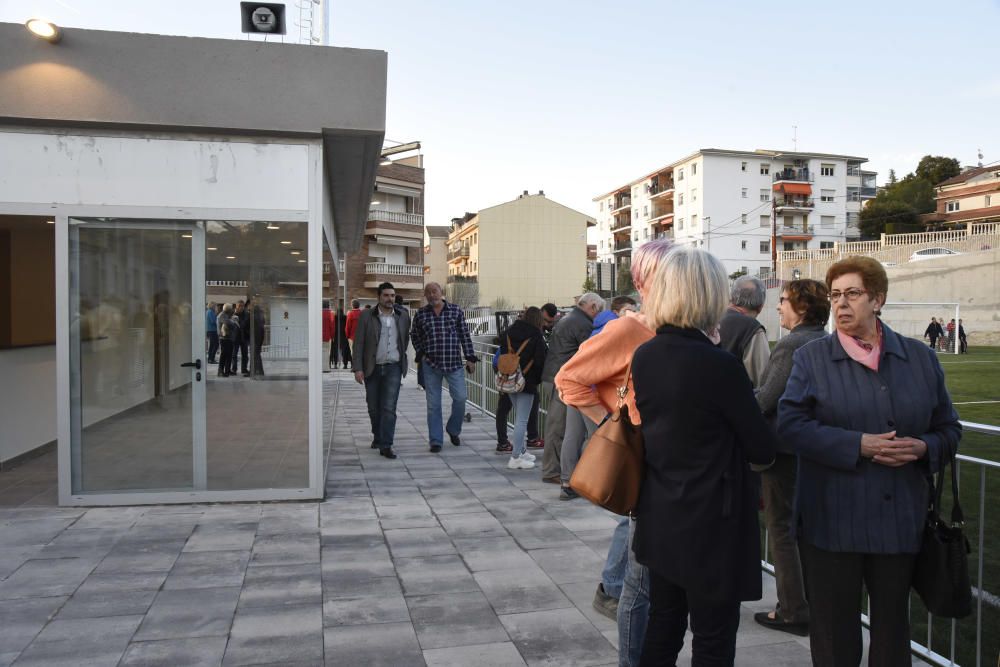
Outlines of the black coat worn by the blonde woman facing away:
{"type": "Polygon", "coordinates": [[[759,484],[748,462],[774,460],[774,434],[739,359],[694,329],[656,333],[632,364],[646,444],[636,559],[689,600],[758,600],[759,484]]]}

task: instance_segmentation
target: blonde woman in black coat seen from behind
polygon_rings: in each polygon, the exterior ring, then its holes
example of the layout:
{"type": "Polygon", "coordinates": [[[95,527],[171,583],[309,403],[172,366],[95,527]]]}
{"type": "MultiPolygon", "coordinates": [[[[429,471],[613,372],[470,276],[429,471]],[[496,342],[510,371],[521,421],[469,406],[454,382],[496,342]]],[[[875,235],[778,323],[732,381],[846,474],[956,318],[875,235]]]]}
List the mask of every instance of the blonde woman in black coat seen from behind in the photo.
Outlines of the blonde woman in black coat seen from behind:
{"type": "Polygon", "coordinates": [[[761,597],[749,464],[771,463],[775,438],[741,360],[710,338],[728,303],[722,263],[695,248],[671,252],[648,292],[656,336],[632,365],[646,445],[632,545],[649,568],[640,665],[675,664],[689,618],[692,664],[733,664],[740,602],[761,597]]]}

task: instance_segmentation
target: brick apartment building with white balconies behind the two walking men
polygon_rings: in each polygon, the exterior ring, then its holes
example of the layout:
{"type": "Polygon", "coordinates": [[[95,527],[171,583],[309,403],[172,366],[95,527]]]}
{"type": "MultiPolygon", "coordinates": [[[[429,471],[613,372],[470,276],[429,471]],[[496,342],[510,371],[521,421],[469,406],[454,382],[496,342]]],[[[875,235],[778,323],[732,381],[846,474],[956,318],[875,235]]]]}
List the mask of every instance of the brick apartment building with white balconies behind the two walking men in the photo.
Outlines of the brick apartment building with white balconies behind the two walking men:
{"type": "Polygon", "coordinates": [[[422,155],[379,166],[361,247],[347,255],[346,263],[338,259],[339,289],[330,296],[340,305],[345,296],[348,304],[353,299],[376,303],[383,282],[392,283],[405,302],[420,303],[425,269],[422,155]]]}

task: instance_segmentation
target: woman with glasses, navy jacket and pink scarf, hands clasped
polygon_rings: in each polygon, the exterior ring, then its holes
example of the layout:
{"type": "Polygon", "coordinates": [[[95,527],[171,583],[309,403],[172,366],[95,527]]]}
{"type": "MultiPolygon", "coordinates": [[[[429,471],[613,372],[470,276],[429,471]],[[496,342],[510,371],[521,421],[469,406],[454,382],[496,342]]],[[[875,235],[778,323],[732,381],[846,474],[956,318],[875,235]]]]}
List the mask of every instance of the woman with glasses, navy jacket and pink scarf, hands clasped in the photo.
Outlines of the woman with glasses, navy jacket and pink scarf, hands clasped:
{"type": "Polygon", "coordinates": [[[908,596],[927,515],[929,474],[961,427],[932,350],[879,319],[889,281],[870,257],[826,274],[836,331],[800,348],[778,405],[799,457],[795,516],[814,665],[910,664],[908,596]]]}

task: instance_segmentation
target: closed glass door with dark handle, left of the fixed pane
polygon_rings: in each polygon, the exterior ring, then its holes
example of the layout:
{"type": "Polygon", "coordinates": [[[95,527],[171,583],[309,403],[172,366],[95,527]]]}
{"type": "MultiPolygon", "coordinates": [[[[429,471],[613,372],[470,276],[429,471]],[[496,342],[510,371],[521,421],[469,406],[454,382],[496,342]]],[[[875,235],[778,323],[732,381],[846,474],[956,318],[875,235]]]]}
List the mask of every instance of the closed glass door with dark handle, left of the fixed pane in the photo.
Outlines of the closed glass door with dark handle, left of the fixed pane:
{"type": "Polygon", "coordinates": [[[205,235],[70,219],[74,495],[206,488],[205,235]]]}

